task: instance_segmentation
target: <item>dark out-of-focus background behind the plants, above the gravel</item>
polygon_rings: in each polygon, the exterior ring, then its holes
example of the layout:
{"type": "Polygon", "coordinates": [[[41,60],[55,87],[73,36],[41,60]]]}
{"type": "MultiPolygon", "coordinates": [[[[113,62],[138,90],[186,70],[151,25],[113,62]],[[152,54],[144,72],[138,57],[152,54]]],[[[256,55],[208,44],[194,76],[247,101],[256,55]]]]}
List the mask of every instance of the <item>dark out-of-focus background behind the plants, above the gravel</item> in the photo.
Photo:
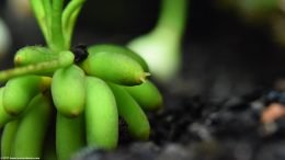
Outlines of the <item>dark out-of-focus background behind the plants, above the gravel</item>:
{"type": "MultiPolygon", "coordinates": [[[[24,0],[0,1],[0,18],[12,35],[12,47],[1,59],[2,69],[12,67],[19,48],[44,43],[29,9],[13,5],[19,1],[24,0]]],[[[284,90],[284,1],[190,0],[183,68],[168,89],[215,98],[260,88],[284,90]]],[[[159,4],[159,0],[87,0],[73,44],[124,45],[155,26],[159,4]]]]}

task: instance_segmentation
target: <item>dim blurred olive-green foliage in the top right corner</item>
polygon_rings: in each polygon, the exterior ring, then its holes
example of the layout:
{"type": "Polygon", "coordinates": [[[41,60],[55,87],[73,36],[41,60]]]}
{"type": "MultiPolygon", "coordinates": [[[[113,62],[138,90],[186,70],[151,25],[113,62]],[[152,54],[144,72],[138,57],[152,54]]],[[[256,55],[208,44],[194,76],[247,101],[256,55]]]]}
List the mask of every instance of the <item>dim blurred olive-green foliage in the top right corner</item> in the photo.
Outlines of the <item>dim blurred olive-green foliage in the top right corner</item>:
{"type": "Polygon", "coordinates": [[[273,42],[285,47],[285,0],[217,0],[216,4],[246,24],[265,28],[273,42]]]}

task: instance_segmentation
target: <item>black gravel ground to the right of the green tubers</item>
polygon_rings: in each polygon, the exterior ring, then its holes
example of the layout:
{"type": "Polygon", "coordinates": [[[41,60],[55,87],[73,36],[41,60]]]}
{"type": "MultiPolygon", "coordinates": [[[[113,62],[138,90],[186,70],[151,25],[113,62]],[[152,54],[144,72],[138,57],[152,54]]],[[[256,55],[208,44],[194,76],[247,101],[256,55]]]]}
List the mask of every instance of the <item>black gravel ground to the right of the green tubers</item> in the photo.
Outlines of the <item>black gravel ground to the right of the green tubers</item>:
{"type": "Polygon", "coordinates": [[[87,148],[76,160],[284,160],[285,118],[260,121],[267,104],[283,103],[284,95],[272,90],[220,102],[182,98],[178,108],[149,113],[149,141],[128,140],[111,152],[87,148]]]}

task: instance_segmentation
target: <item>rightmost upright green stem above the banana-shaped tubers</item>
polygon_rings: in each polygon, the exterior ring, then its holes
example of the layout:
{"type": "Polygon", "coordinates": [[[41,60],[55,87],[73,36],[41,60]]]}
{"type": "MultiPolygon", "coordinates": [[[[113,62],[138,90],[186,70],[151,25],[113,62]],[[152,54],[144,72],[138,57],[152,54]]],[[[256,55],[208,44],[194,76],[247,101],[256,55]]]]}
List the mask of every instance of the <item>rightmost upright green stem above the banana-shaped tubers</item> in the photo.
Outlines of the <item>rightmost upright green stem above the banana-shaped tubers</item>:
{"type": "Polygon", "coordinates": [[[66,42],[66,47],[70,47],[72,33],[78,14],[86,0],[71,0],[62,12],[62,31],[66,42]]]}

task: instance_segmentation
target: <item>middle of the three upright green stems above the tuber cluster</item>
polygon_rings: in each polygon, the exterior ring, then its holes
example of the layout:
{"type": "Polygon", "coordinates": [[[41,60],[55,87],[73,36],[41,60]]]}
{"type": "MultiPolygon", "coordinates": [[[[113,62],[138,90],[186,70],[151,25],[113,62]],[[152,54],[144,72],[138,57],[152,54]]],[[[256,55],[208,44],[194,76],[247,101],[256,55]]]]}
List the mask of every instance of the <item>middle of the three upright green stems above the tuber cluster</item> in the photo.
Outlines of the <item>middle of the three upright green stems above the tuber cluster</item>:
{"type": "Polygon", "coordinates": [[[52,42],[50,49],[55,53],[59,53],[65,49],[65,39],[62,34],[61,12],[62,12],[64,0],[53,0],[53,12],[52,12],[52,42]]]}

